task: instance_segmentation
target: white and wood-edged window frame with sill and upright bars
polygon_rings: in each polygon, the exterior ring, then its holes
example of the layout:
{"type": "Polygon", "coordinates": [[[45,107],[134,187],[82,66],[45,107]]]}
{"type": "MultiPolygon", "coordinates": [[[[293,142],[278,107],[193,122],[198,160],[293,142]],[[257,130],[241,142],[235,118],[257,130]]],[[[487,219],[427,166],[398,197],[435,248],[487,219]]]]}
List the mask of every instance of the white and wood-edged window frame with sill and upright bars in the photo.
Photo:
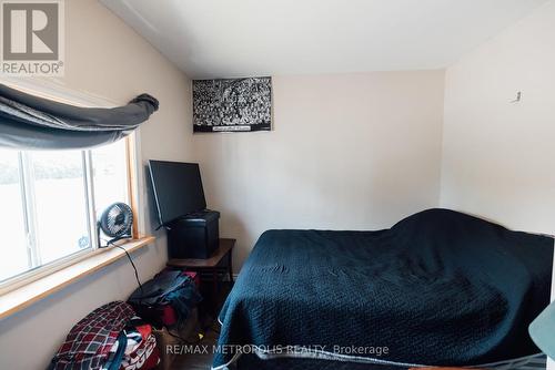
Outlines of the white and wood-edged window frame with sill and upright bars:
{"type": "MultiPolygon", "coordinates": [[[[98,97],[91,94],[83,94],[81,92],[77,91],[71,91],[68,90],[63,86],[60,86],[59,84],[52,84],[50,81],[47,80],[40,80],[34,82],[21,82],[20,80],[13,80],[10,81],[10,79],[7,79],[8,81],[2,81],[2,83],[27,92],[31,93],[34,95],[39,95],[46,99],[54,100],[58,102],[62,103],[68,103],[68,104],[73,104],[73,105],[80,105],[80,106],[95,106],[95,107],[114,107],[118,104],[114,102],[111,102],[109,100],[105,100],[103,97],[98,97]]],[[[139,132],[135,130],[133,133],[131,133],[129,136],[122,138],[125,141],[125,164],[127,164],[127,187],[128,187],[128,201],[129,205],[133,212],[133,227],[132,227],[132,237],[131,240],[138,240],[141,237],[144,236],[144,220],[142,217],[140,217],[140,213],[138,212],[140,207],[140,199],[139,199],[139,173],[140,173],[140,146],[139,146],[139,132]]],[[[29,161],[23,161],[22,156],[24,156],[26,153],[24,151],[19,152],[18,158],[20,161],[21,169],[23,171],[29,171],[29,168],[24,168],[24,166],[29,165],[29,161]]],[[[98,235],[97,235],[97,214],[94,209],[94,184],[93,184],[93,172],[92,172],[92,150],[83,150],[82,153],[82,161],[83,161],[83,186],[85,191],[85,208],[87,208],[87,214],[88,214],[88,229],[89,229],[89,235],[91,239],[91,246],[82,249],[82,250],[77,250],[68,256],[61,257],[59,259],[56,259],[53,261],[43,264],[41,266],[37,266],[34,268],[31,268],[24,273],[14,275],[13,277],[10,277],[3,281],[0,282],[0,297],[4,294],[8,294],[12,290],[16,290],[18,288],[21,288],[26,285],[29,285],[33,281],[37,281],[41,278],[44,278],[51,274],[54,274],[63,268],[67,268],[71,265],[78,264],[79,261],[82,261],[84,259],[98,256],[99,254],[104,253],[105,250],[109,250],[111,248],[98,248],[98,235]]],[[[29,232],[29,228],[32,228],[33,226],[28,225],[30,222],[29,219],[32,217],[29,217],[28,214],[30,213],[30,209],[28,209],[29,205],[32,204],[32,202],[29,202],[27,199],[29,197],[29,194],[32,193],[32,189],[29,189],[28,186],[26,185],[26,182],[23,182],[23,178],[26,175],[23,173],[20,173],[20,186],[21,186],[21,192],[22,196],[24,199],[23,202],[23,209],[26,213],[26,232],[29,232]]],[[[32,195],[31,195],[32,196],[32,195]]],[[[31,219],[32,223],[32,219],[31,219]]],[[[31,235],[28,233],[28,235],[31,235]]],[[[36,235],[33,233],[32,235],[36,235]]],[[[117,243],[118,245],[125,244],[130,240],[120,240],[117,243]]],[[[38,249],[38,244],[37,243],[31,243],[33,248],[38,249]]],[[[33,251],[34,254],[37,250],[33,251]]]]}

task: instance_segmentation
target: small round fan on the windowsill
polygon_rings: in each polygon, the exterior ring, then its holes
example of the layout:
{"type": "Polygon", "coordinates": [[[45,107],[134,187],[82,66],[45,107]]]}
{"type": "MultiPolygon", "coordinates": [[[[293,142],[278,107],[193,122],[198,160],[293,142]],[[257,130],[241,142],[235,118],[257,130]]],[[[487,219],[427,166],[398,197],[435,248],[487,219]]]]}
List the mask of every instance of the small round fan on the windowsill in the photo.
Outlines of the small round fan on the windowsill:
{"type": "Polygon", "coordinates": [[[131,210],[131,207],[124,203],[112,204],[102,213],[98,222],[99,245],[100,230],[102,230],[105,236],[112,238],[108,240],[108,245],[110,245],[117,240],[130,238],[132,226],[133,210],[131,210]]]}

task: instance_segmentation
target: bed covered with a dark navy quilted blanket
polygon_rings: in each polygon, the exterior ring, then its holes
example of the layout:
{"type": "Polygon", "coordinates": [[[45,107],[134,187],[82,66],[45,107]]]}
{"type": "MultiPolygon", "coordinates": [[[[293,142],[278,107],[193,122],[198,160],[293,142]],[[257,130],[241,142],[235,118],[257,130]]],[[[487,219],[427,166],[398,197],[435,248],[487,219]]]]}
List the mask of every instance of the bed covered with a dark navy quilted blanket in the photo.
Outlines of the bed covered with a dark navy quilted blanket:
{"type": "Polygon", "coordinates": [[[447,209],[377,232],[269,230],[220,312],[213,369],[537,362],[527,327],[552,260],[551,237],[447,209]]]}

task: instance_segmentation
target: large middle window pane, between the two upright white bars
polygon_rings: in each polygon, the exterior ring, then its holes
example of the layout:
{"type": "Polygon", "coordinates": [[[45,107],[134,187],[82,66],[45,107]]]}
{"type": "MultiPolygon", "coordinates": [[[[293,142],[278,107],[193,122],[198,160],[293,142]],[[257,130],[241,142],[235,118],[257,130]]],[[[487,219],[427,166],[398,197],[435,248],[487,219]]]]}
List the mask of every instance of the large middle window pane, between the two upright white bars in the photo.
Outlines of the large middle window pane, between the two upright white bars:
{"type": "Polygon", "coordinates": [[[31,152],[39,264],[90,247],[81,151],[31,152]]]}

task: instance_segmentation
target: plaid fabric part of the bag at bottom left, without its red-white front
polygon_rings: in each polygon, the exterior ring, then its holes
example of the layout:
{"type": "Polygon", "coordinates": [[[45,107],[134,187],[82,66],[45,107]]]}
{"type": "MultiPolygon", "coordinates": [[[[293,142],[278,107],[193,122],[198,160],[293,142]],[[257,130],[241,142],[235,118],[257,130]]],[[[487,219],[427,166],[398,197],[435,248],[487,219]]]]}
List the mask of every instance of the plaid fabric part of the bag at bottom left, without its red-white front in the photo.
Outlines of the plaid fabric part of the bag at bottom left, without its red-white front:
{"type": "Polygon", "coordinates": [[[133,316],[133,308],[122,301],[97,308],[68,333],[52,359],[51,369],[100,369],[107,361],[118,335],[133,316]]]}

